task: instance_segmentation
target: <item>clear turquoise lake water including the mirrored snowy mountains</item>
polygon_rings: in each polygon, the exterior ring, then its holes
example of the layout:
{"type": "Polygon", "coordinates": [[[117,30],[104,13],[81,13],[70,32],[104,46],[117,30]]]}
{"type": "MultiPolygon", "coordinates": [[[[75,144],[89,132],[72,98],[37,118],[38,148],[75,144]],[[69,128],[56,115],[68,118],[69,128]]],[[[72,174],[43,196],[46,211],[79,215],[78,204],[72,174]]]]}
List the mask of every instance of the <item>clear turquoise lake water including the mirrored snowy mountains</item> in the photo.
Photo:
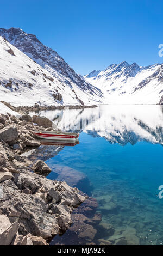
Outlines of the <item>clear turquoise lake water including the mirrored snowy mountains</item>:
{"type": "MultiPolygon", "coordinates": [[[[71,118],[80,117],[84,123],[84,118],[90,120],[89,111],[74,111],[71,118]]],[[[91,130],[88,122],[81,125],[80,143],[65,147],[46,161],[53,170],[48,178],[58,177],[55,169],[59,166],[84,174],[86,179],[77,187],[97,199],[101,224],[114,227],[114,234],[96,235],[92,242],[97,243],[100,237],[116,244],[125,238],[128,245],[161,245],[163,199],[158,197],[158,188],[163,185],[162,108],[135,106],[120,111],[120,107],[112,106],[109,113],[103,106],[93,111],[97,115],[91,118],[91,130]]],[[[65,130],[74,129],[68,125],[65,130]]],[[[98,234],[100,229],[96,229],[98,234]]]]}

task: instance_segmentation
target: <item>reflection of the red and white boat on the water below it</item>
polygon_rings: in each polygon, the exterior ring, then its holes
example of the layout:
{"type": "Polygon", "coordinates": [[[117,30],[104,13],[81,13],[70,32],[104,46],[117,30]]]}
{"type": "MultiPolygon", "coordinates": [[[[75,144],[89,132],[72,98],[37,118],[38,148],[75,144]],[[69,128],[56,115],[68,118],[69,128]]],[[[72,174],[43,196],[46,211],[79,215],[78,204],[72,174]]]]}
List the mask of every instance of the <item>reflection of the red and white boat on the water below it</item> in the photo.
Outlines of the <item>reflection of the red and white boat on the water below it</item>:
{"type": "Polygon", "coordinates": [[[76,141],[60,141],[60,140],[50,140],[50,139],[39,139],[41,145],[52,145],[52,146],[71,146],[74,147],[79,144],[79,140],[76,141]]]}

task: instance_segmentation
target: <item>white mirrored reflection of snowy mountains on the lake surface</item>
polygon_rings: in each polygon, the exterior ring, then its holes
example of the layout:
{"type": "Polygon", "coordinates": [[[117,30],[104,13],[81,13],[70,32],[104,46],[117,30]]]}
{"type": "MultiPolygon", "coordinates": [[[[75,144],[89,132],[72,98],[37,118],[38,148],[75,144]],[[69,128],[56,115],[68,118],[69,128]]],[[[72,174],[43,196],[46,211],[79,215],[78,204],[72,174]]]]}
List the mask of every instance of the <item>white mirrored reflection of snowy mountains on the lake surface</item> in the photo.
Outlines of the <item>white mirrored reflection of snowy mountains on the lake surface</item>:
{"type": "Polygon", "coordinates": [[[110,143],[163,143],[163,106],[101,105],[96,108],[42,111],[63,131],[80,131],[110,143]]]}

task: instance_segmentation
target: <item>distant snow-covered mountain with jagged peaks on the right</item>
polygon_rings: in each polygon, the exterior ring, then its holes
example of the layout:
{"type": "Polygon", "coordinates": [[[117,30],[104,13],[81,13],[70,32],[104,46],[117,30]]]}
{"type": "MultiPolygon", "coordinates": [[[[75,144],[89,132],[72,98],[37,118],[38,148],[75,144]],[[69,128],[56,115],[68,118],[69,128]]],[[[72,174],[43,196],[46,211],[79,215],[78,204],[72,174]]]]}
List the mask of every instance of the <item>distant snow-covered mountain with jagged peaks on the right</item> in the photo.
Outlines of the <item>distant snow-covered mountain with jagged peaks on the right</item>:
{"type": "Polygon", "coordinates": [[[92,71],[86,81],[102,90],[105,103],[163,103],[163,64],[142,67],[127,62],[92,71]]]}

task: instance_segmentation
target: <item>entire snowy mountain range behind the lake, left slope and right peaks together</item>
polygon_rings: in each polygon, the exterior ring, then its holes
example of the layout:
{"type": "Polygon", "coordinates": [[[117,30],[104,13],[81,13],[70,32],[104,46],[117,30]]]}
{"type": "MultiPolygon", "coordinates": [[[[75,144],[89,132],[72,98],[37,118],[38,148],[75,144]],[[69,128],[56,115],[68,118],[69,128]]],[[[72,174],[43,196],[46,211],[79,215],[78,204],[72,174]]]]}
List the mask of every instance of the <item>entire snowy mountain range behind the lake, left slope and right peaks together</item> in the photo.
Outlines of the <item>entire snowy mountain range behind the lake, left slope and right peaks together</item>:
{"type": "Polygon", "coordinates": [[[77,74],[20,28],[0,28],[0,101],[12,105],[163,104],[163,64],[127,62],[77,74]]]}

